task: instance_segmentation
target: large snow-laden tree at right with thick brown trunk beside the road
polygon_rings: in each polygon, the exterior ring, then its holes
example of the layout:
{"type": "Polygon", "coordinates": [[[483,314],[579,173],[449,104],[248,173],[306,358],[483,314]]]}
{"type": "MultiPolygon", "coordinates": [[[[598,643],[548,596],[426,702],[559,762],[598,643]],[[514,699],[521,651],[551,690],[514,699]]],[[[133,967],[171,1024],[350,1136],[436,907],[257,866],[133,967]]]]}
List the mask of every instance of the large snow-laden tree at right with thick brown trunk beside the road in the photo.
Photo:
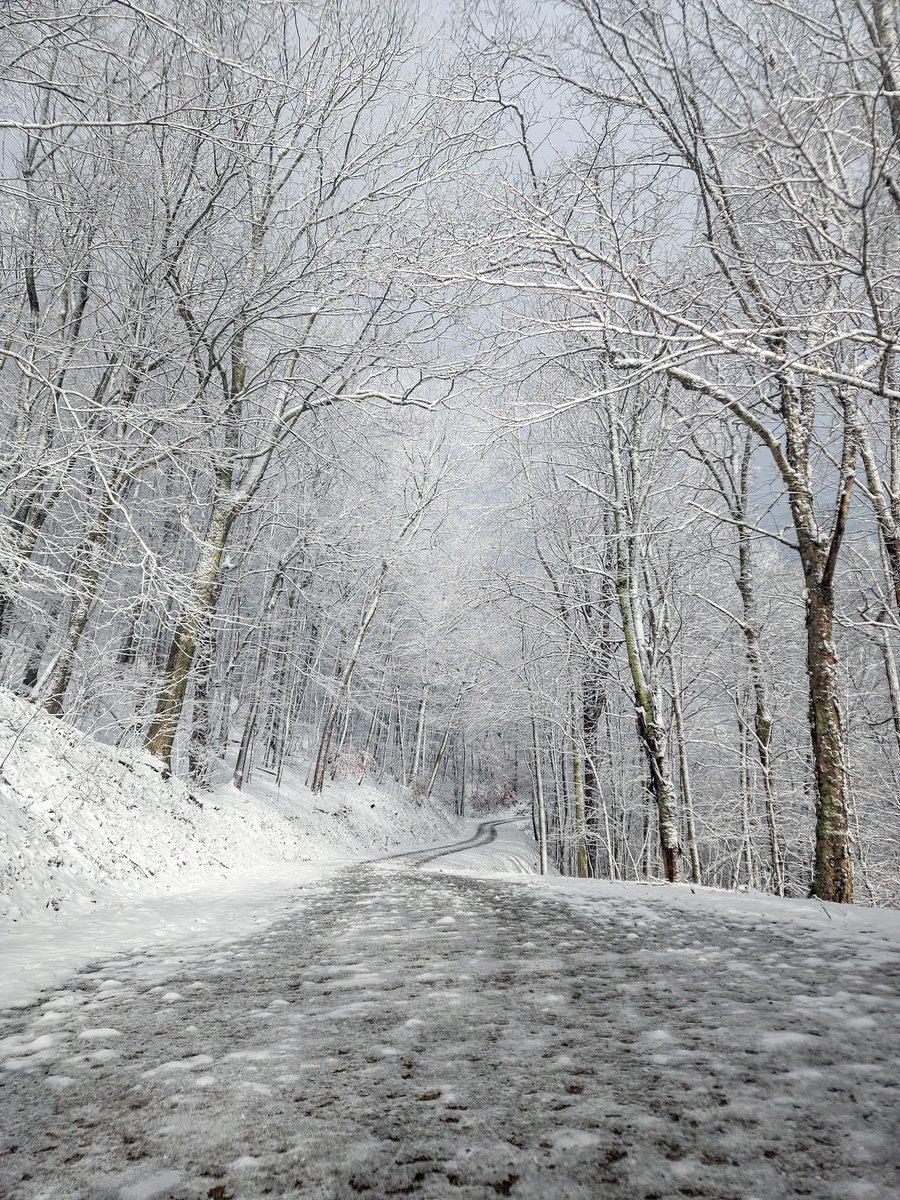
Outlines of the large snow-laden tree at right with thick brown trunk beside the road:
{"type": "Polygon", "coordinates": [[[482,86],[512,114],[528,167],[482,277],[541,296],[538,328],[598,356],[607,376],[583,402],[660,380],[737,418],[769,455],[804,580],[815,890],[835,900],[853,895],[834,584],[854,496],[894,556],[887,13],[565,0],[533,28],[494,22],[505,79],[482,86]],[[540,103],[572,114],[556,160],[526,120],[540,103]]]}

